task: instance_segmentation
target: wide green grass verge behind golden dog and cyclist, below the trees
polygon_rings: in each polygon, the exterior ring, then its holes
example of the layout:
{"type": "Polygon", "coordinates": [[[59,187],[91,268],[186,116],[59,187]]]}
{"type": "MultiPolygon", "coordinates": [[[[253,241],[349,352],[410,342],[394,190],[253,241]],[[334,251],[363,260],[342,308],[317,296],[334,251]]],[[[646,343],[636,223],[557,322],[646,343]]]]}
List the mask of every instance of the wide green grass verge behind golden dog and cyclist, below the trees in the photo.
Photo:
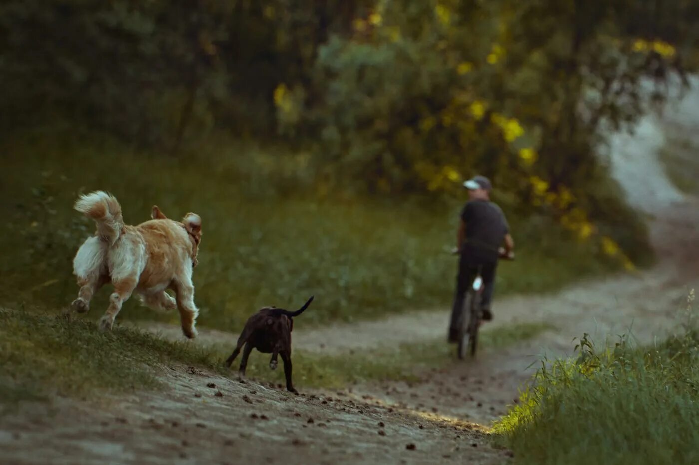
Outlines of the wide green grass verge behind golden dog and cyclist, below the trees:
{"type": "MultiPolygon", "coordinates": [[[[201,215],[194,283],[204,327],[239,330],[254,309],[296,307],[309,295],[316,297],[304,316],[310,325],[443,309],[452,297],[457,263],[445,249],[460,202],[310,195],[309,179],[317,180],[305,154],[252,145],[203,147],[173,159],[71,130],[1,144],[0,195],[12,200],[0,204],[0,215],[13,231],[0,242],[6,305],[66,307],[75,298],[72,258],[94,225],[72,206],[78,193],[95,189],[117,196],[128,223],[149,219],[153,204],[175,218],[201,215]]],[[[500,265],[498,296],[552,291],[615,269],[552,220],[509,219],[519,254],[500,265]]],[[[89,318],[99,318],[108,295],[97,294],[89,318]]],[[[131,299],[119,318],[177,317],[131,299]]]]}

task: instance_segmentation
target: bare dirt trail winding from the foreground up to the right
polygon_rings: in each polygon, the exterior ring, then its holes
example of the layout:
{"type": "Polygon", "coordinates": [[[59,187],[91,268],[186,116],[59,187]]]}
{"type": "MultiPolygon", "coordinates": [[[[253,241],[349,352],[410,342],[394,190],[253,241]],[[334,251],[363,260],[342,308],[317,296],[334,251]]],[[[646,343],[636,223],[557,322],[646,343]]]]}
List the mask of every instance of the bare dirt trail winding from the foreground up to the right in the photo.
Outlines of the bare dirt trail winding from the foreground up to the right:
{"type": "MultiPolygon", "coordinates": [[[[583,332],[600,341],[630,326],[648,342],[677,323],[687,291],[699,282],[699,202],[667,182],[656,150],[664,125],[682,123],[688,133],[699,125],[696,108],[699,91],[693,90],[662,121],[648,117],[635,137],[615,135],[610,145],[612,172],[629,201],[654,216],[651,239],[659,263],[638,274],[578,283],[555,295],[497,300],[496,320],[489,323],[539,320],[556,330],[429,372],[420,383],[375,383],[352,392],[294,396],[192,367],[164,367],[160,377],[169,386],[164,392],[99,402],[56,398],[49,406],[25,404],[17,413],[0,416],[1,462],[503,463],[508,452],[489,445],[482,425],[505,413],[531,375],[533,368],[527,367],[542,353],[571,353],[572,338],[583,332]]],[[[444,338],[447,311],[319,330],[298,325],[294,347],[343,353],[444,338]]],[[[149,329],[181,337],[178,328],[149,329]]],[[[197,344],[231,344],[234,338],[202,330],[197,344]]]]}

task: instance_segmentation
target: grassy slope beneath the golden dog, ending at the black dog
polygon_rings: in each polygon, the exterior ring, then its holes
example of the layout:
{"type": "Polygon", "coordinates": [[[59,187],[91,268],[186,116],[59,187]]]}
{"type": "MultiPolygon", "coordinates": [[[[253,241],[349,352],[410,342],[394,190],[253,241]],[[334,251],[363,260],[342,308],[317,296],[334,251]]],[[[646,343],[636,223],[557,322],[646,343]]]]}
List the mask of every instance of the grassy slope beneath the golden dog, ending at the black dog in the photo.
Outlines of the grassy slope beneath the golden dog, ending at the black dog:
{"type": "Polygon", "coordinates": [[[164,364],[222,371],[217,355],[137,330],[103,333],[55,314],[0,309],[0,402],[159,388],[164,364]]]}

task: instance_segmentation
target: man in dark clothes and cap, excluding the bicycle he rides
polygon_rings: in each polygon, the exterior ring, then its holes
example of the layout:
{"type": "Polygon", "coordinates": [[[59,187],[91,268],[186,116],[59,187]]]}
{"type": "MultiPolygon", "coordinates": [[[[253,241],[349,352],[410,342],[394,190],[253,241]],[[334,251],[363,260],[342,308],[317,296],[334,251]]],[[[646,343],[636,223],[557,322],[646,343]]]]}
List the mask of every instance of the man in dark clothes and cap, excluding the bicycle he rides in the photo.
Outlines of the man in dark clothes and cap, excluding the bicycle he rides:
{"type": "Polygon", "coordinates": [[[484,283],[481,302],[483,320],[492,320],[491,299],[495,284],[498,258],[505,243],[505,254],[512,258],[514,242],[505,214],[490,201],[491,183],[487,177],[475,176],[463,183],[468,189],[469,200],[461,210],[459,232],[456,235],[456,249],[460,253],[459,276],[456,278],[456,295],[449,324],[449,342],[457,341],[459,316],[466,291],[475,279],[478,267],[484,283]]]}

